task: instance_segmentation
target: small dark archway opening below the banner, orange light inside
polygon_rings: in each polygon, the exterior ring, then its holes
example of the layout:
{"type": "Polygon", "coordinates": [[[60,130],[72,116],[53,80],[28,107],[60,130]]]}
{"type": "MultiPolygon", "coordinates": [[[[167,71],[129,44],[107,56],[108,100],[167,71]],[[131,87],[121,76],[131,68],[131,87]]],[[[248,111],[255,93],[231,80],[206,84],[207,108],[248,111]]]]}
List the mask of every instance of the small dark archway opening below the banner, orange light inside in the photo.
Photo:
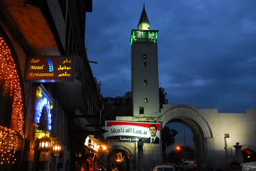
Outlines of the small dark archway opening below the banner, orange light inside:
{"type": "Polygon", "coordinates": [[[115,149],[108,155],[108,171],[115,168],[118,171],[129,171],[129,156],[121,150],[115,149]]]}

